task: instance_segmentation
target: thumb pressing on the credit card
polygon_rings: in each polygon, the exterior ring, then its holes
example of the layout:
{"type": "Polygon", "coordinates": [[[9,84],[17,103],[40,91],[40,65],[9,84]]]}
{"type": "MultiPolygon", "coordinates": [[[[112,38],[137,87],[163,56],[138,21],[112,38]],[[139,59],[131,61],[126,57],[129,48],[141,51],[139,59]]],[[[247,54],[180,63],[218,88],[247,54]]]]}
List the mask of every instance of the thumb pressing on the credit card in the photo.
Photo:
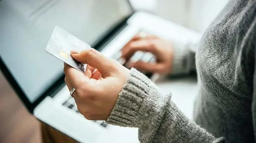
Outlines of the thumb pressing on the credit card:
{"type": "Polygon", "coordinates": [[[97,69],[103,78],[110,76],[111,66],[114,64],[109,58],[105,57],[99,51],[89,48],[81,52],[71,52],[71,56],[80,63],[89,64],[93,68],[97,69]]]}

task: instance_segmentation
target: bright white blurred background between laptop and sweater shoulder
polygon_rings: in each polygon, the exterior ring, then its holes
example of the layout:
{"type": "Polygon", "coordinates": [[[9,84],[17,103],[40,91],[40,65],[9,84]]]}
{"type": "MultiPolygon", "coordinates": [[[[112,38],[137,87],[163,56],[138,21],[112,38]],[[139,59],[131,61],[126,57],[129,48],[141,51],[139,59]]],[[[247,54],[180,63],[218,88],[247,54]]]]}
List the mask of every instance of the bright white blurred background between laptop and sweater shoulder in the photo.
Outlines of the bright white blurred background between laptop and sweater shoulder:
{"type": "Polygon", "coordinates": [[[204,32],[228,0],[130,0],[137,9],[154,12],[169,21],[204,32]],[[153,5],[156,6],[153,6],[153,5]],[[146,8],[147,7],[147,8],[146,8]]]}

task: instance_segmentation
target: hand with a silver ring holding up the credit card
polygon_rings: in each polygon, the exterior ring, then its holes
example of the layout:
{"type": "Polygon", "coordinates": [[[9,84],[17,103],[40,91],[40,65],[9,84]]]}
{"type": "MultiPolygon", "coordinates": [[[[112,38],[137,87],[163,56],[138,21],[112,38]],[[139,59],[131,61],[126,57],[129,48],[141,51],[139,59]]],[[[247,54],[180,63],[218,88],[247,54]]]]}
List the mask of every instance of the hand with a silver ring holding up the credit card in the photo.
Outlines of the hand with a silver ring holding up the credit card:
{"type": "Polygon", "coordinates": [[[87,64],[85,73],[64,65],[65,82],[69,91],[75,89],[72,95],[79,112],[88,120],[106,120],[130,70],[94,49],[71,52],[71,55],[87,64]]]}

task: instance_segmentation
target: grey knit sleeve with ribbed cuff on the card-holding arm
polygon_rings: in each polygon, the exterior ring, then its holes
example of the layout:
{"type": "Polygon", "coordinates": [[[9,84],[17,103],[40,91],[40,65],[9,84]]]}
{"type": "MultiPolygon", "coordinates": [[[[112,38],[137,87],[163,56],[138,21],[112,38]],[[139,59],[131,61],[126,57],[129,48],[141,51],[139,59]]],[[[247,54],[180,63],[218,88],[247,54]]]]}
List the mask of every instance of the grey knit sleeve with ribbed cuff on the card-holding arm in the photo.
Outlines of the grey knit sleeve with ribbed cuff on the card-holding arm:
{"type": "Polygon", "coordinates": [[[142,143],[224,142],[188,119],[171,101],[171,94],[160,94],[157,86],[135,69],[131,69],[106,123],[139,128],[142,143]]]}

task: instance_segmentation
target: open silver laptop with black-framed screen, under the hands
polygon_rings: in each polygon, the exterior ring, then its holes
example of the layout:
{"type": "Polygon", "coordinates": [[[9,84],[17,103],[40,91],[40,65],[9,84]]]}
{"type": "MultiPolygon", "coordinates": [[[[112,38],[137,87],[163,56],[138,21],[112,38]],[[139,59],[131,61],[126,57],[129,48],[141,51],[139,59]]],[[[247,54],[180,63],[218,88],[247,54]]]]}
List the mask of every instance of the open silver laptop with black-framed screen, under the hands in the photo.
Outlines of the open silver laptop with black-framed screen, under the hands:
{"type": "MultiPolygon", "coordinates": [[[[79,113],[64,82],[63,63],[45,52],[56,25],[123,65],[120,49],[140,31],[181,43],[193,43],[198,35],[136,12],[127,0],[1,0],[0,7],[3,75],[31,114],[82,143],[136,143],[138,129],[86,120],[79,113]]],[[[154,61],[142,52],[134,57],[154,61]]],[[[152,81],[159,76],[145,74],[152,81]]]]}

